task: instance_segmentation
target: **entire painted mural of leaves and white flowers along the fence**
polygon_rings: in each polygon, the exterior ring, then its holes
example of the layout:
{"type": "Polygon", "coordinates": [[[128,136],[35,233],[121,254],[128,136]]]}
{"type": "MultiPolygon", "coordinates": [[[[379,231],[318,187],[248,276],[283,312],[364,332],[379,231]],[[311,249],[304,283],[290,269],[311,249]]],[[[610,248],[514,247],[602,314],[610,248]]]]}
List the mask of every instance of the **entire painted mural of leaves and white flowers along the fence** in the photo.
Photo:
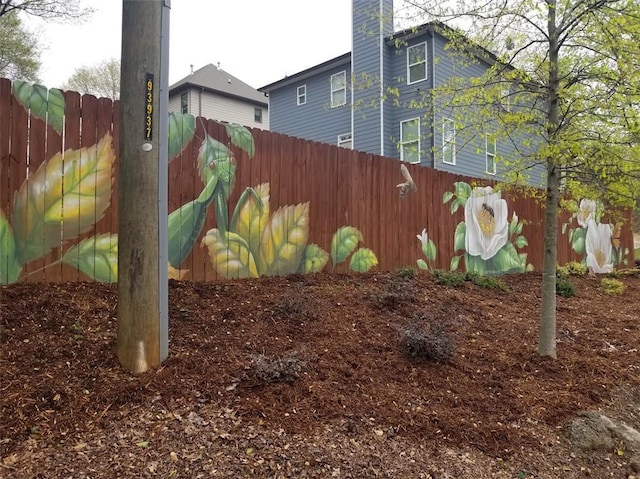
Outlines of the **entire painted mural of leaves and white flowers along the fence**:
{"type": "MultiPolygon", "coordinates": [[[[62,134],[65,99],[59,90],[14,82],[13,95],[28,113],[62,134]]],[[[365,272],[378,265],[376,253],[364,246],[365,238],[354,225],[338,228],[328,245],[311,242],[313,205],[309,201],[271,205],[269,182],[246,187],[236,204],[230,205],[237,167],[232,146],[251,159],[255,145],[247,128],[236,124],[224,124],[224,128],[226,144],[207,133],[197,139],[201,141],[196,161],[202,189],[196,198],[169,213],[170,278],[186,276],[188,270],[181,267],[194,247],[206,248],[211,265],[225,278],[307,274],[334,270],[339,264],[365,272]],[[205,232],[210,209],[215,228],[205,232]]],[[[191,144],[195,131],[192,115],[170,115],[169,161],[191,144]]],[[[27,164],[26,158],[22,161],[27,164]]],[[[0,208],[0,284],[37,273],[26,266],[54,250],[58,259],[46,267],[63,263],[93,280],[117,281],[117,234],[87,237],[111,205],[115,162],[113,138],[106,133],[92,146],[55,152],[28,172],[14,194],[10,211],[0,208]]],[[[400,171],[405,180],[397,185],[401,200],[406,201],[409,194],[420,195],[404,164],[400,171]]],[[[442,204],[450,204],[452,215],[460,208],[464,211],[464,220],[453,232],[453,251],[438,252],[426,225],[416,235],[423,255],[417,258],[417,266],[433,271],[437,255],[444,254],[451,257],[450,270],[463,267],[480,275],[532,270],[522,251],[528,245],[524,221],[509,211],[501,192],[465,182],[452,186],[452,191],[444,193],[442,204]]],[[[574,210],[562,231],[568,229],[569,242],[583,255],[584,264],[596,273],[608,273],[616,265],[626,264],[629,250],[620,244],[621,224],[601,223],[602,207],[588,199],[576,203],[574,210]]]]}

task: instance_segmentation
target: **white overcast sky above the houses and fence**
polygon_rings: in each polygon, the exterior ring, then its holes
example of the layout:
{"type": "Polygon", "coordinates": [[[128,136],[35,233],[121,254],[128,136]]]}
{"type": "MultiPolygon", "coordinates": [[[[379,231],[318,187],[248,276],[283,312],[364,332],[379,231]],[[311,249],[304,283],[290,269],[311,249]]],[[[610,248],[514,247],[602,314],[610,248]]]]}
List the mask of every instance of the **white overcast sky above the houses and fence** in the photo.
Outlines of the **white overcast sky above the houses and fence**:
{"type": "MultiPolygon", "coordinates": [[[[152,1],[152,0],[139,0],[152,1]]],[[[156,0],[153,0],[156,1],[156,0]]],[[[26,19],[37,31],[40,78],[60,88],[76,68],[120,58],[122,0],[81,0],[79,25],[26,19]]],[[[169,83],[209,63],[254,88],[351,50],[351,0],[171,0],[169,83]]]]}

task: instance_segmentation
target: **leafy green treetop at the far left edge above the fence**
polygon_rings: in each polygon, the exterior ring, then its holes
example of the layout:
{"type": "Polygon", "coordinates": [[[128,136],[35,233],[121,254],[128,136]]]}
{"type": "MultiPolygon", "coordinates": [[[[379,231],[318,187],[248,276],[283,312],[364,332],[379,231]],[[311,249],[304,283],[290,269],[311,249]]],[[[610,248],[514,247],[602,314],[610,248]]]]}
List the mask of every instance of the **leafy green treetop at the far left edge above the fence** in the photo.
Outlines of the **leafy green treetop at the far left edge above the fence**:
{"type": "Polygon", "coordinates": [[[35,35],[27,30],[17,12],[0,18],[0,77],[38,81],[40,55],[35,35]]]}

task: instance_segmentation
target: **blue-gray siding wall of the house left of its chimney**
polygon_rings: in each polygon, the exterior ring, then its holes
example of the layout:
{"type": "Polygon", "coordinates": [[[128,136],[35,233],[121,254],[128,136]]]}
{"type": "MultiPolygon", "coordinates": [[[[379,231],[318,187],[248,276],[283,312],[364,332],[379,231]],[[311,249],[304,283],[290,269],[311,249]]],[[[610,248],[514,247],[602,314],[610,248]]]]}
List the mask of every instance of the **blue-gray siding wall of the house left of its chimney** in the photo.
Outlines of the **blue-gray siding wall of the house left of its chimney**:
{"type": "Polygon", "coordinates": [[[351,74],[348,63],[269,93],[271,130],[337,145],[338,135],[351,133],[351,74]],[[331,108],[331,75],[346,71],[347,102],[331,108]],[[307,87],[307,102],[298,105],[297,89],[307,87]]]}

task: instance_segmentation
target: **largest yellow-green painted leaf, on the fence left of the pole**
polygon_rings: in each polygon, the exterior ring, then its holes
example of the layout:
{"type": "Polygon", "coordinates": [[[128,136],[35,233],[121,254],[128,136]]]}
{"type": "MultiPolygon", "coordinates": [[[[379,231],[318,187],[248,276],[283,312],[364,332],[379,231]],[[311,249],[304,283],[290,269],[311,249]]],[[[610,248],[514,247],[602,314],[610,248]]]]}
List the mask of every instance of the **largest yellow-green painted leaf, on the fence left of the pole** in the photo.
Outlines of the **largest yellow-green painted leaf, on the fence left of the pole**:
{"type": "Polygon", "coordinates": [[[102,218],[111,203],[114,162],[107,133],[97,145],[56,154],[22,184],[12,217],[21,263],[44,256],[102,218]]]}

